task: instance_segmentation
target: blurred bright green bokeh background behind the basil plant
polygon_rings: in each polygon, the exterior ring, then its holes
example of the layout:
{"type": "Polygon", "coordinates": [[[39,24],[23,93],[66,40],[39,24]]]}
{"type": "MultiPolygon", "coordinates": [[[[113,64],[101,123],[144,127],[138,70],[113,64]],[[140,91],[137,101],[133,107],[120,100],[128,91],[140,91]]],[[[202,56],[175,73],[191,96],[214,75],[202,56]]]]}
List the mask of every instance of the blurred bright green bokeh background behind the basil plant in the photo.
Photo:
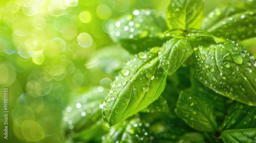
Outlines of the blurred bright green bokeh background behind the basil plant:
{"type": "MultiPolygon", "coordinates": [[[[206,14],[223,2],[207,0],[206,14]]],[[[102,23],[135,9],[165,13],[168,3],[1,1],[0,112],[4,112],[7,87],[9,116],[8,139],[0,117],[0,142],[100,142],[107,128],[98,101],[106,96],[104,91],[123,62],[132,57],[112,42],[102,23]]],[[[255,56],[253,41],[241,44],[255,56]]]]}

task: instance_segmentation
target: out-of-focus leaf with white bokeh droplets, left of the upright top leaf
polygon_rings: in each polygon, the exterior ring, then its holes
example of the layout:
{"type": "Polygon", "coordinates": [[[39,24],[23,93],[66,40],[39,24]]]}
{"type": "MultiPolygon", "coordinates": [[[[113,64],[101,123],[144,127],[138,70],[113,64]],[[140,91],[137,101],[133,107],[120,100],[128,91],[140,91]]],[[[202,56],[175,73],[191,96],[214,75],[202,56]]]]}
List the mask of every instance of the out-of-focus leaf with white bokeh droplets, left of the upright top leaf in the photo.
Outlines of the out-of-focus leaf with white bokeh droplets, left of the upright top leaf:
{"type": "Polygon", "coordinates": [[[134,10],[125,15],[107,19],[103,29],[111,39],[130,53],[137,54],[149,47],[162,46],[162,34],[167,30],[163,14],[155,10],[134,10]]]}

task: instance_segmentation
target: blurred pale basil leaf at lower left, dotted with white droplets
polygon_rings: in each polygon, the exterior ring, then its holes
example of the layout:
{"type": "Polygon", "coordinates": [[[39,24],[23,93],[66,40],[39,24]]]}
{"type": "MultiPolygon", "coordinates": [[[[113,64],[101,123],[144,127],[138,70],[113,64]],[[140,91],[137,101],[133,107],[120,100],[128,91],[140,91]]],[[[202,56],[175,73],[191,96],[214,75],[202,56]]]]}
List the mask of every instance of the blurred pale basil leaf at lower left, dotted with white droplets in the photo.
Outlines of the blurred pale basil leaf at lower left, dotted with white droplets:
{"type": "Polygon", "coordinates": [[[100,105],[107,94],[107,89],[99,92],[95,87],[74,98],[63,110],[61,128],[69,133],[70,130],[80,132],[92,127],[102,117],[100,108],[95,108],[95,105],[100,105]]]}

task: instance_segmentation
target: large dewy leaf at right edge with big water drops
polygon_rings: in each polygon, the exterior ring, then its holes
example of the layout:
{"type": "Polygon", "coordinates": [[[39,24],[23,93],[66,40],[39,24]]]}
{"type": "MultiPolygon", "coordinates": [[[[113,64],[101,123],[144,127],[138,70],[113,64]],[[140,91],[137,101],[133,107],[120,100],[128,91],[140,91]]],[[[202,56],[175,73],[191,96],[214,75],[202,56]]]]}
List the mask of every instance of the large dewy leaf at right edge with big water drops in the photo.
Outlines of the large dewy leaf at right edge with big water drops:
{"type": "Polygon", "coordinates": [[[232,100],[256,105],[253,55],[232,42],[201,44],[194,53],[191,73],[202,84],[232,100]]]}

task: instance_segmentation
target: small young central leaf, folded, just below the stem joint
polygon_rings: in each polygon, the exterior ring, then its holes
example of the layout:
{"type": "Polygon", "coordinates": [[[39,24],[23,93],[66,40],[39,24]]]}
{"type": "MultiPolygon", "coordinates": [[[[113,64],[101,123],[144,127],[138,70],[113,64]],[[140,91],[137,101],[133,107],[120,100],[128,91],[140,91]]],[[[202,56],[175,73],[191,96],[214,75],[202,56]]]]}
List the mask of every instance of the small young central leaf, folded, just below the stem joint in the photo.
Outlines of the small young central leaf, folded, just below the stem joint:
{"type": "Polygon", "coordinates": [[[159,50],[159,60],[165,73],[172,75],[193,53],[190,44],[184,39],[170,39],[159,50]]]}

